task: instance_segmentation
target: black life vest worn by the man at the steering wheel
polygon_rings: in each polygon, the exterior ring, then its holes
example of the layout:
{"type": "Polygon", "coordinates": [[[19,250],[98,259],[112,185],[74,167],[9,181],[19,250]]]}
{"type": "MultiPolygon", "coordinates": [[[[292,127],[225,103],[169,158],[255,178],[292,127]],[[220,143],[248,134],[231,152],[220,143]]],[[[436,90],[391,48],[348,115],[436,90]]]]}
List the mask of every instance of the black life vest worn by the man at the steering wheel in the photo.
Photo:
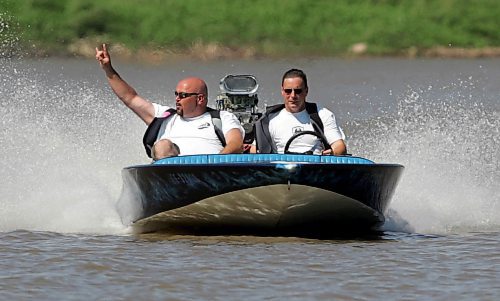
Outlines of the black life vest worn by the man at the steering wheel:
{"type": "MultiPolygon", "coordinates": [[[[269,116],[273,113],[277,113],[285,108],[284,104],[270,106],[266,109],[266,112],[262,117],[255,123],[255,141],[257,145],[257,150],[261,154],[276,154],[278,150],[276,144],[271,138],[269,133],[269,116]]],[[[318,106],[312,102],[306,102],[306,111],[311,118],[311,124],[316,133],[321,136],[325,136],[323,133],[324,126],[321,118],[318,114],[318,106]]],[[[325,138],[326,140],[326,138],[325,138]]]]}

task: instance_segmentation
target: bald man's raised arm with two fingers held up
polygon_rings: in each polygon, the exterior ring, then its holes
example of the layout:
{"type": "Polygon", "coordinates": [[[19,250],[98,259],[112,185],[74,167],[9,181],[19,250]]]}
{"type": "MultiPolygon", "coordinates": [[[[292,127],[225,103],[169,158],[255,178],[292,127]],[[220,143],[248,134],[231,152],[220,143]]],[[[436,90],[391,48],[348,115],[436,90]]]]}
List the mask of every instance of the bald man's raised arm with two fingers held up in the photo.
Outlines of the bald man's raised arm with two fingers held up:
{"type": "Polygon", "coordinates": [[[106,73],[108,78],[108,83],[116,96],[129,107],[139,118],[141,118],[147,125],[149,125],[154,119],[154,107],[151,102],[140,97],[137,92],[132,88],[127,82],[125,82],[118,72],[111,65],[111,58],[106,49],[106,44],[102,45],[102,50],[97,47],[96,59],[99,61],[102,69],[106,73]]]}

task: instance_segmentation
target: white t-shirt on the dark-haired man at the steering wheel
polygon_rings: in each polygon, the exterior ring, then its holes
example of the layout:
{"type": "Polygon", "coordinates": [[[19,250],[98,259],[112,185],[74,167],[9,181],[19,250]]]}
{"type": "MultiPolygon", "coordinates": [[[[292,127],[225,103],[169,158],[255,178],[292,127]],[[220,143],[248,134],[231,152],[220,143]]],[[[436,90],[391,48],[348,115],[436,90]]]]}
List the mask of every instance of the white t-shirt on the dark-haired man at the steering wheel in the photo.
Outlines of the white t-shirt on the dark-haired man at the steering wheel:
{"type": "MultiPolygon", "coordinates": [[[[318,106],[318,115],[323,122],[323,131],[329,144],[339,139],[345,139],[342,129],[335,121],[335,115],[330,110],[318,106]]],[[[295,133],[314,131],[311,118],[305,109],[299,113],[290,113],[286,109],[282,109],[278,113],[271,114],[269,120],[269,134],[276,143],[279,154],[284,153],[286,143],[295,133]]],[[[323,144],[316,136],[302,135],[293,140],[288,150],[296,153],[312,150],[314,154],[320,155],[323,144]]]]}

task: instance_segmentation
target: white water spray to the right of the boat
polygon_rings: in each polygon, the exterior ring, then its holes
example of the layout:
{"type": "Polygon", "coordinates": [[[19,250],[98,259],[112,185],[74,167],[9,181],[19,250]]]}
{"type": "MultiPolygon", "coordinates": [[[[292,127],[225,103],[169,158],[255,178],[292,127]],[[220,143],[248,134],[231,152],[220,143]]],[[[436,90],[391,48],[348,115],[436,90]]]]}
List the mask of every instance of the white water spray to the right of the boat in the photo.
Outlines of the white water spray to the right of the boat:
{"type": "Polygon", "coordinates": [[[409,88],[395,118],[369,125],[360,142],[366,155],[406,167],[388,229],[446,234],[500,228],[500,118],[481,105],[476,85],[457,80],[409,88]]]}

